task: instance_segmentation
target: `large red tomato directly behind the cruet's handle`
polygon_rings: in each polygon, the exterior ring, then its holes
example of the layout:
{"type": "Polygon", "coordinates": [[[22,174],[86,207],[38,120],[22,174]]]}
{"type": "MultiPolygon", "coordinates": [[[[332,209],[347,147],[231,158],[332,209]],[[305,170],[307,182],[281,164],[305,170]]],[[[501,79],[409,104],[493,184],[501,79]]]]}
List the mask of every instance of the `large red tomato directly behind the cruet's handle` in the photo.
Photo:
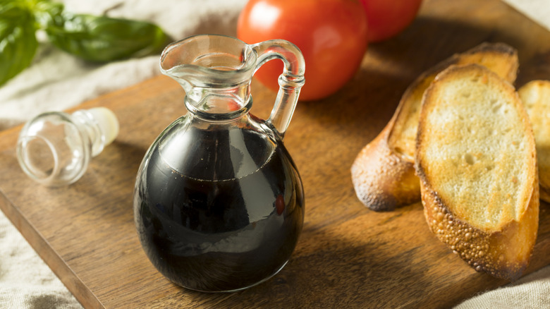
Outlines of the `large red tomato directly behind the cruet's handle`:
{"type": "MultiPolygon", "coordinates": [[[[250,0],[240,13],[237,37],[253,44],[272,39],[294,43],[304,55],[301,100],[327,97],[359,68],[367,49],[367,21],[354,0],[250,0]]],[[[255,77],[272,90],[282,61],[269,61],[255,77]]]]}

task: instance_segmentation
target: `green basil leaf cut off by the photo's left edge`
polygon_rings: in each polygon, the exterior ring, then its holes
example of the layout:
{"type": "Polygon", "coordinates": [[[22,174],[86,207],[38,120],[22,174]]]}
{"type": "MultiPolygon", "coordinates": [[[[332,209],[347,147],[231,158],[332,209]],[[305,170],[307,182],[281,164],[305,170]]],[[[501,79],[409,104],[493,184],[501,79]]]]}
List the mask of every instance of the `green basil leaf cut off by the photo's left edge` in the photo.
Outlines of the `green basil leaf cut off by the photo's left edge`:
{"type": "Polygon", "coordinates": [[[38,48],[32,13],[16,1],[0,6],[0,85],[30,66],[38,48]]]}

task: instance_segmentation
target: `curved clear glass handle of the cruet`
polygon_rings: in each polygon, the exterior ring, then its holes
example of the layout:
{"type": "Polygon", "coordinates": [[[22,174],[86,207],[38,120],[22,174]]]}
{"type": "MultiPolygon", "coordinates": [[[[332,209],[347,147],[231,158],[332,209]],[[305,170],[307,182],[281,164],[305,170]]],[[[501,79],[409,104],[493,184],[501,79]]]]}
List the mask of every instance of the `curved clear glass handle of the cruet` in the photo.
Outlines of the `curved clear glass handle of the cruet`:
{"type": "Polygon", "coordinates": [[[279,92],[267,119],[283,138],[298,102],[300,89],[305,83],[304,56],[296,45],[286,40],[269,40],[253,44],[252,49],[258,54],[256,71],[273,59],[281,59],[284,63],[283,73],[279,75],[279,92]]]}

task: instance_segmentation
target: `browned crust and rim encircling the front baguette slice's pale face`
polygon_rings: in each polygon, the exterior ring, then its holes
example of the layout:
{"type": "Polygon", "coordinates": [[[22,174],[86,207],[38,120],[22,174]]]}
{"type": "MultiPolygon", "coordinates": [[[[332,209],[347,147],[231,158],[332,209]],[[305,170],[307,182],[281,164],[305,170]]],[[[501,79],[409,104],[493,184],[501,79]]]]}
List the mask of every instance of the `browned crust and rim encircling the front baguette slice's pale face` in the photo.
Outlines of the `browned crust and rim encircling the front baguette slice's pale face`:
{"type": "MultiPolygon", "coordinates": [[[[458,71],[465,70],[483,71],[484,74],[489,75],[489,78],[498,78],[486,68],[476,66],[475,64],[451,66],[440,73],[434,80],[434,83],[424,93],[417,132],[415,162],[415,169],[421,181],[420,187],[424,217],[432,233],[476,271],[487,272],[494,277],[515,281],[515,279],[518,279],[523,274],[527,265],[529,265],[532,249],[537,239],[539,224],[539,178],[534,135],[530,127],[527,112],[523,109],[513,87],[511,85],[503,85],[512,88],[511,90],[508,89],[507,94],[510,95],[512,93],[515,96],[512,102],[516,102],[516,108],[523,123],[523,131],[528,141],[526,147],[530,156],[525,158],[529,162],[528,178],[525,184],[528,186],[526,190],[530,194],[524,200],[520,200],[520,202],[525,203],[525,207],[520,208],[523,209],[522,213],[518,214],[516,218],[504,216],[504,221],[499,222],[496,227],[489,224],[487,226],[472,224],[468,219],[462,218],[453,212],[453,207],[450,204],[456,203],[456,201],[445,200],[434,189],[434,179],[431,177],[439,178],[440,174],[436,174],[437,171],[435,173],[434,171],[427,173],[426,168],[430,166],[431,162],[424,162],[423,147],[426,147],[427,143],[430,143],[429,140],[423,140],[424,131],[438,130],[438,128],[430,127],[430,123],[425,123],[427,113],[438,104],[439,98],[433,92],[436,87],[439,87],[438,84],[441,80],[455,78],[454,75],[458,71]],[[430,105],[430,107],[427,107],[427,105],[430,105]]],[[[487,190],[487,188],[479,188],[479,190],[487,190]]],[[[491,194],[491,192],[486,193],[487,195],[491,194]]]]}

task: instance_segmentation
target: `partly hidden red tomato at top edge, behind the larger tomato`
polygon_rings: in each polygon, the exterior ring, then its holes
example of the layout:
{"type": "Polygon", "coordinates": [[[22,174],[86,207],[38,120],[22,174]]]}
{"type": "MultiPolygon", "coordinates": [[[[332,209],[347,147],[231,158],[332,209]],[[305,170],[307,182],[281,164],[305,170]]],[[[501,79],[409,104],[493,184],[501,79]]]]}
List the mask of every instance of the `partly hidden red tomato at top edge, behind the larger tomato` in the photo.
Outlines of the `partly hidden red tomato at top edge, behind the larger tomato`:
{"type": "Polygon", "coordinates": [[[369,42],[389,39],[415,19],[422,0],[361,0],[367,13],[369,42]]]}

